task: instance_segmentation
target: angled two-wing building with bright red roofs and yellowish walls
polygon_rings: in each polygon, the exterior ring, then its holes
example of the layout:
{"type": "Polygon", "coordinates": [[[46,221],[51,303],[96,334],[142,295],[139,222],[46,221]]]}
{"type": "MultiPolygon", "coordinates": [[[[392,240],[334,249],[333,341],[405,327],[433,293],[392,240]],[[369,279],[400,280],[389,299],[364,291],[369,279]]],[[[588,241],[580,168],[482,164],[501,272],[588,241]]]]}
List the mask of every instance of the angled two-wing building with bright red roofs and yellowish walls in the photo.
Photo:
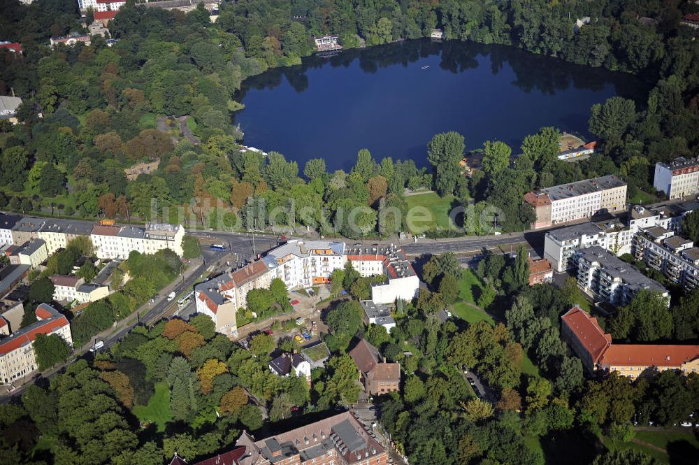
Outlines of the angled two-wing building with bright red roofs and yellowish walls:
{"type": "Polygon", "coordinates": [[[579,307],[561,317],[561,334],[589,373],[617,373],[635,379],[665,370],[699,371],[699,345],[615,344],[595,317],[579,307]]]}

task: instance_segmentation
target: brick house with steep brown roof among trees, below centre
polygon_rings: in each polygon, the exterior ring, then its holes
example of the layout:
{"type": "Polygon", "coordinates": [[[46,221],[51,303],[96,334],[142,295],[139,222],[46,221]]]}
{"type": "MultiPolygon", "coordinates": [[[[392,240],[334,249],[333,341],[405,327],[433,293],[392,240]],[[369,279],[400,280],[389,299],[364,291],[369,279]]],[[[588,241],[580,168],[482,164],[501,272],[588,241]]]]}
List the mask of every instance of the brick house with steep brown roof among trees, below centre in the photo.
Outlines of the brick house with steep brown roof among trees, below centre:
{"type": "Polygon", "coordinates": [[[382,362],[379,350],[361,339],[349,356],[356,363],[364,390],[370,396],[398,392],[401,388],[401,364],[382,362]]]}

